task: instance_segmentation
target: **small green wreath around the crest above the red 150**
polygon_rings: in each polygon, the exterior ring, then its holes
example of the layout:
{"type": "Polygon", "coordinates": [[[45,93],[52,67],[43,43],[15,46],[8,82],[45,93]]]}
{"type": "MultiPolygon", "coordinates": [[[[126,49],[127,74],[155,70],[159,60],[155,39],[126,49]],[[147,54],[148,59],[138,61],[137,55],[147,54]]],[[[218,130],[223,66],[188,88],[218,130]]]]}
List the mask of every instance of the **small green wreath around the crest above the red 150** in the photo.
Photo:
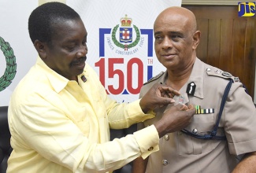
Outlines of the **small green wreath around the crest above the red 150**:
{"type": "MultiPolygon", "coordinates": [[[[117,46],[117,47],[120,47],[120,48],[123,48],[124,49],[124,45],[121,44],[121,42],[118,42],[117,39],[116,39],[116,33],[117,33],[117,28],[119,27],[119,24],[117,24],[114,28],[113,28],[113,31],[112,31],[112,41],[113,43],[117,46]]],[[[133,25],[133,28],[135,29],[135,32],[136,32],[136,39],[134,42],[132,42],[131,44],[128,44],[128,49],[129,48],[132,48],[134,46],[136,46],[139,42],[139,39],[140,39],[140,35],[139,35],[139,29],[133,25]]]]}

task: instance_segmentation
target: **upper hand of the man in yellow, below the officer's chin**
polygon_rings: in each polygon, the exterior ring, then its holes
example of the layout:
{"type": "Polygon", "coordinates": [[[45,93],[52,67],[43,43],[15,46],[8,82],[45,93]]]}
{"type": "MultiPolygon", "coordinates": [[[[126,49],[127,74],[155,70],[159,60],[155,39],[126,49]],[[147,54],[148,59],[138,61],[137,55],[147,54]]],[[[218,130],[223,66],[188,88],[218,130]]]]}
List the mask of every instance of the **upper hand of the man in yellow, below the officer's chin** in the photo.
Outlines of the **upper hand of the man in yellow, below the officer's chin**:
{"type": "Polygon", "coordinates": [[[169,86],[155,83],[154,86],[147,91],[147,94],[141,98],[139,105],[143,112],[147,113],[157,107],[174,103],[173,97],[175,95],[180,95],[180,93],[169,86]]]}

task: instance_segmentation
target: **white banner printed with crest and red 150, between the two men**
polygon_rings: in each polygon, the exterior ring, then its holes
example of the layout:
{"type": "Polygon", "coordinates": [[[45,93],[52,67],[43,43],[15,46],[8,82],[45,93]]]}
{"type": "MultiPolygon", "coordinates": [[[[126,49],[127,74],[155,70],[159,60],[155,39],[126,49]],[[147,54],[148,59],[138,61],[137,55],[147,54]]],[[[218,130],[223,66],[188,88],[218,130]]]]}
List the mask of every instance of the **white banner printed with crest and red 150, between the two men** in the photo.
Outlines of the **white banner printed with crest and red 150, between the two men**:
{"type": "Polygon", "coordinates": [[[181,0],[66,0],[87,29],[87,63],[111,98],[130,102],[148,79],[164,71],[154,53],[154,20],[181,0]]]}

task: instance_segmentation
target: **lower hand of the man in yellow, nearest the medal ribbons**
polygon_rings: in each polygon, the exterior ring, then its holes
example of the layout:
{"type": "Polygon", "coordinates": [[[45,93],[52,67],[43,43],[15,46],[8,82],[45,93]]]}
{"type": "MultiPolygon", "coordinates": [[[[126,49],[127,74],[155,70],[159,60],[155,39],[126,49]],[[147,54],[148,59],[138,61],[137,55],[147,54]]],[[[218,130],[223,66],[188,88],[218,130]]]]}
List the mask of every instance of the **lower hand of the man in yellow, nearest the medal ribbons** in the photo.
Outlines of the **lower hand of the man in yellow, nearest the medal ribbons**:
{"type": "Polygon", "coordinates": [[[191,117],[195,114],[195,108],[193,105],[176,105],[164,112],[154,126],[158,130],[159,138],[163,135],[172,133],[174,131],[180,131],[187,127],[190,123],[191,117]]]}

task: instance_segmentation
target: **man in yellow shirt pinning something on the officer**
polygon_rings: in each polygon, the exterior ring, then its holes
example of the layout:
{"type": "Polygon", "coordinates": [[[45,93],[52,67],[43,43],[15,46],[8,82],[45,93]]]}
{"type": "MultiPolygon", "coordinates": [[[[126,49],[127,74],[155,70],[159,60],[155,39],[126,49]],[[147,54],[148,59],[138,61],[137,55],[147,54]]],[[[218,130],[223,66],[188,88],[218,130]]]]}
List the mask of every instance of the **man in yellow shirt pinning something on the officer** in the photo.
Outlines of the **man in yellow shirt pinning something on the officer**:
{"type": "Polygon", "coordinates": [[[176,90],[154,85],[130,104],[106,94],[85,63],[87,31],[78,13],[60,2],[36,8],[28,30],[39,53],[9,102],[13,153],[7,172],[107,172],[146,158],[159,138],[187,126],[192,106],[178,105],[149,127],[109,142],[109,128],[121,129],[154,117],[154,109],[173,103],[176,90]]]}

